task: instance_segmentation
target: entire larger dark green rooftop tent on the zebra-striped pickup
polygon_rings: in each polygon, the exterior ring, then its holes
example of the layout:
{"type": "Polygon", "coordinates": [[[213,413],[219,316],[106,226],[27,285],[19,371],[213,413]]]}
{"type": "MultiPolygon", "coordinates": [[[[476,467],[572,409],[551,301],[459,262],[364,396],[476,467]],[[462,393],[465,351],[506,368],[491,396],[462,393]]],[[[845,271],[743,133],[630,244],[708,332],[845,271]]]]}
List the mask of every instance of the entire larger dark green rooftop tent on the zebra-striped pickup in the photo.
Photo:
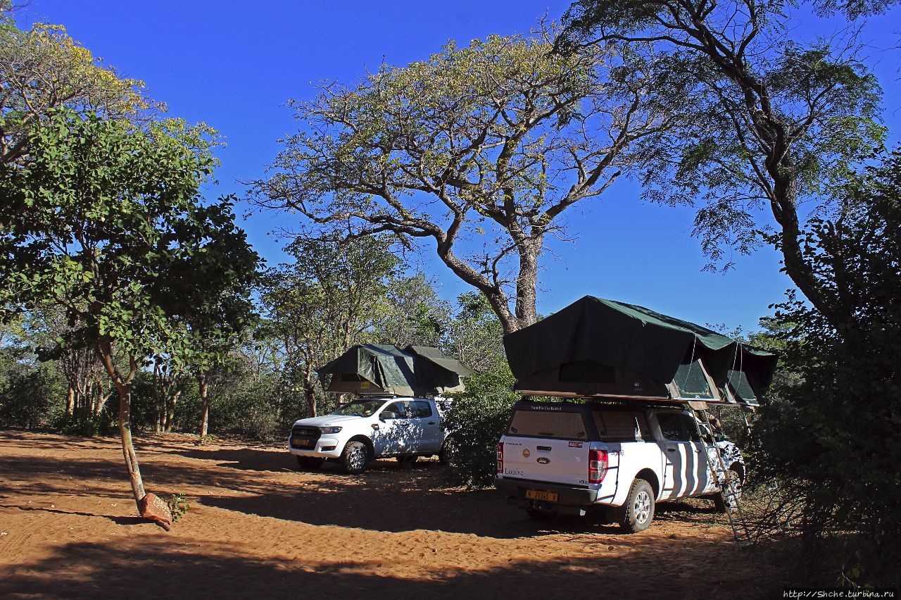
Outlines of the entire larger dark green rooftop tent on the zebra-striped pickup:
{"type": "Polygon", "coordinates": [[[776,355],[695,323],[587,295],[504,336],[529,395],[700,400],[757,406],[776,355]]]}

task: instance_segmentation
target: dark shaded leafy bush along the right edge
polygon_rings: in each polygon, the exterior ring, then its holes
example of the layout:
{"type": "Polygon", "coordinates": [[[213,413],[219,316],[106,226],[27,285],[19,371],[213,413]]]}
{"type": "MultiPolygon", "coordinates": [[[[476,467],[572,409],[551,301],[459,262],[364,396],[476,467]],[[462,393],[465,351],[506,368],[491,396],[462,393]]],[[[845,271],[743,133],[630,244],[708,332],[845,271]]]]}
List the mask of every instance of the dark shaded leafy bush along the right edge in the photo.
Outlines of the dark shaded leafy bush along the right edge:
{"type": "Polygon", "coordinates": [[[847,317],[838,327],[789,296],[776,323],[787,368],[756,425],[761,475],[805,501],[812,562],[822,542],[855,537],[845,568],[897,585],[901,537],[901,151],[852,182],[847,209],[816,219],[805,248],[847,317]]]}

